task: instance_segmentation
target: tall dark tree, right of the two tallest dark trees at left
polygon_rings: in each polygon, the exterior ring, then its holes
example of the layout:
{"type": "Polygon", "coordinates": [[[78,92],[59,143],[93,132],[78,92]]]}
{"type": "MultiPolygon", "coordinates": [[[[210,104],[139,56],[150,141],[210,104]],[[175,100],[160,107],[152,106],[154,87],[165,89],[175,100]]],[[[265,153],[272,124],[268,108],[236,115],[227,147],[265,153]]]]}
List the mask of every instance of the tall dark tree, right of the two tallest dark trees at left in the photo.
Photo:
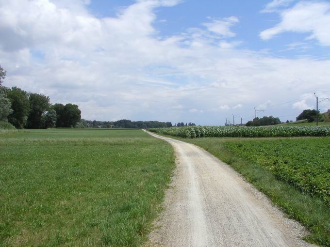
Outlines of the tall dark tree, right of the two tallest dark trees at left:
{"type": "Polygon", "coordinates": [[[45,113],[49,109],[49,97],[44,94],[30,93],[30,114],[26,127],[30,129],[41,129],[45,127],[45,113]]]}

